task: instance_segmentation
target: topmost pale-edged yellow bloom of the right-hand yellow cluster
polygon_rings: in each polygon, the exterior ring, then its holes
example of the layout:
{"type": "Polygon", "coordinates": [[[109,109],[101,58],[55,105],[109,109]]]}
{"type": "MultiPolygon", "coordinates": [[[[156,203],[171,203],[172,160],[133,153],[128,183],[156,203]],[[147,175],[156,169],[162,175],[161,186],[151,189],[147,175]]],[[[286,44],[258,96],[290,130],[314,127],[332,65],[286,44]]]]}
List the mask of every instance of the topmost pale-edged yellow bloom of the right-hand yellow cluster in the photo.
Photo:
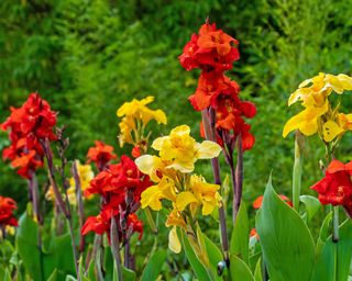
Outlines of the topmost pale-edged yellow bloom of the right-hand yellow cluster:
{"type": "Polygon", "coordinates": [[[344,90],[352,90],[352,77],[343,74],[333,76],[320,72],[298,86],[298,89],[290,94],[288,105],[302,101],[306,108],[322,106],[332,91],[341,94],[344,90]],[[307,87],[308,85],[311,86],[307,87]]]}

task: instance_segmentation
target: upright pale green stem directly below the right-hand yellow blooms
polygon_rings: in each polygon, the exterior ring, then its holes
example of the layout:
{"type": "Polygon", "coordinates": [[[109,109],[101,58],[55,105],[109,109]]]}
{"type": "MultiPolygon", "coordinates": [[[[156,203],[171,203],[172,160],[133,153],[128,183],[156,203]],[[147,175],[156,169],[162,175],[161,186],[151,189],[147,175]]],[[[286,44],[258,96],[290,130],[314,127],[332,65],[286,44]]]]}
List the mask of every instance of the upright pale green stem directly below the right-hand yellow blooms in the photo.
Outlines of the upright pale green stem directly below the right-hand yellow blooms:
{"type": "Polygon", "coordinates": [[[301,170],[302,170],[302,140],[304,136],[299,131],[296,132],[295,138],[295,164],[293,172],[293,201],[294,207],[299,211],[299,196],[300,196],[300,187],[301,187],[301,170]]]}

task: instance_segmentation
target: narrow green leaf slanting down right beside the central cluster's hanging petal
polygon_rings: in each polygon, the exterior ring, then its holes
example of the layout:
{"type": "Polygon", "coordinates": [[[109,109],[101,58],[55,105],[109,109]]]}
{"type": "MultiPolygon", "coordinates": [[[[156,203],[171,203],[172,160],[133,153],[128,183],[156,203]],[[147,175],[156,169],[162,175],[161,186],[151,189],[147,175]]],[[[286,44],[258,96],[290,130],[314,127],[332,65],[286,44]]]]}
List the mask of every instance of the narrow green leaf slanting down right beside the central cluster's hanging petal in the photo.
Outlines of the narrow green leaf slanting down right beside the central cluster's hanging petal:
{"type": "Polygon", "coordinates": [[[185,249],[187,259],[188,259],[196,277],[202,281],[208,281],[208,280],[210,281],[211,280],[210,274],[207,271],[207,268],[205,267],[205,265],[198,259],[193,247],[190,246],[186,233],[182,229],[177,229],[177,234],[178,234],[178,237],[180,237],[183,248],[185,249]]]}

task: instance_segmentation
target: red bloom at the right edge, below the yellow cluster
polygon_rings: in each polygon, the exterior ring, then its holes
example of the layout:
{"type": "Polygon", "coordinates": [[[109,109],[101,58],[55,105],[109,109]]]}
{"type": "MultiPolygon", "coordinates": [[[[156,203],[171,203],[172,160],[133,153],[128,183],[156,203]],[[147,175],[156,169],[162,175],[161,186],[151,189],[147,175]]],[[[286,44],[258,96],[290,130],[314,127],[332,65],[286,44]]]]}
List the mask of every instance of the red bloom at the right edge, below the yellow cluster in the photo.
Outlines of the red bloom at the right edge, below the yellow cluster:
{"type": "Polygon", "coordinates": [[[311,189],[319,193],[321,204],[342,205],[352,217],[352,161],[344,165],[332,160],[326,170],[326,177],[311,189]]]}

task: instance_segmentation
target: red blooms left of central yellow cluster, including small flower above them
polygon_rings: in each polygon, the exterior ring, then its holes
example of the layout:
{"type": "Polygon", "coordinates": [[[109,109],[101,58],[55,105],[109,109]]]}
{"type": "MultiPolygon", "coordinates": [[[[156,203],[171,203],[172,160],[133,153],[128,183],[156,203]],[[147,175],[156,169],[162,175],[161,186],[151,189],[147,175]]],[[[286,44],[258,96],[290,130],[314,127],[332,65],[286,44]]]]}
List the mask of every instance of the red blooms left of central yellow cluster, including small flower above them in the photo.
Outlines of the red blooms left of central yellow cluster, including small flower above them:
{"type": "Polygon", "coordinates": [[[102,198],[101,211],[99,215],[87,218],[81,234],[95,232],[101,235],[107,233],[110,237],[113,216],[118,225],[120,240],[129,239],[134,232],[140,233],[139,238],[141,239],[143,223],[138,218],[135,211],[140,207],[141,193],[152,186],[152,182],[147,176],[139,171],[134,161],[128,156],[121,156],[119,164],[108,164],[116,156],[112,150],[110,155],[107,153],[110,150],[108,146],[99,147],[100,150],[95,150],[97,154],[90,160],[95,161],[98,167],[102,165],[105,168],[91,180],[85,195],[99,194],[102,198]],[[101,159],[105,159],[105,162],[101,162],[101,159]]]}

